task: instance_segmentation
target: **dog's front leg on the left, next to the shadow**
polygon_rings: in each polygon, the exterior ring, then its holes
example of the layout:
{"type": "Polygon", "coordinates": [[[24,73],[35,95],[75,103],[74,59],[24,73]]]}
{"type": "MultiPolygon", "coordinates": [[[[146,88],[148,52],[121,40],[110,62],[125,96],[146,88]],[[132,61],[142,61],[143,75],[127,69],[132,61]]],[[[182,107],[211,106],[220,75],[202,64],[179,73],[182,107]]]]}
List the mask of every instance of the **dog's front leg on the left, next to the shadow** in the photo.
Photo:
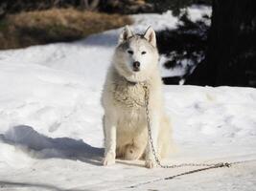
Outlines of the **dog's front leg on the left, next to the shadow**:
{"type": "Polygon", "coordinates": [[[116,120],[114,117],[106,117],[105,125],[105,158],[103,165],[115,163],[116,158],[116,120]]]}

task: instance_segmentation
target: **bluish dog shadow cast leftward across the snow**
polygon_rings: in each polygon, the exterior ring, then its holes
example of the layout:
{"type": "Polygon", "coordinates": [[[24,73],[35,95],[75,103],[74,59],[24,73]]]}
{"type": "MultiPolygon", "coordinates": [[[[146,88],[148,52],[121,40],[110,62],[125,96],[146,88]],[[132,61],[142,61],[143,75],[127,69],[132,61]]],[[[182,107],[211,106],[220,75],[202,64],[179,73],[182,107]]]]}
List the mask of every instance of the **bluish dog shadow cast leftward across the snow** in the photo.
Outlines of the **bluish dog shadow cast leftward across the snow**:
{"type": "Polygon", "coordinates": [[[104,148],[92,147],[81,139],[48,138],[26,125],[12,127],[5,134],[0,134],[0,141],[20,146],[37,159],[78,159],[101,165],[104,156],[104,148]]]}

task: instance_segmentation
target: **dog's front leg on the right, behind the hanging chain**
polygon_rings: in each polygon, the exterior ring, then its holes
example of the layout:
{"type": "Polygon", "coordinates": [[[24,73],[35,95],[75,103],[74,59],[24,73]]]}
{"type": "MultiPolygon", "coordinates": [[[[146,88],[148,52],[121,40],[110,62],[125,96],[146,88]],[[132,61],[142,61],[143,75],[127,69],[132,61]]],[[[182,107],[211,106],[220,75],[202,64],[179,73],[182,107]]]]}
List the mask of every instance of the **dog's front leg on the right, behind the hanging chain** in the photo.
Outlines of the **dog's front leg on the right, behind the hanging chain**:
{"type": "MultiPolygon", "coordinates": [[[[157,155],[157,138],[158,138],[158,131],[159,131],[159,117],[157,114],[154,114],[153,112],[151,112],[150,115],[150,122],[151,122],[151,138],[148,138],[148,144],[146,147],[146,155],[145,155],[145,166],[147,168],[153,168],[156,166],[155,160],[154,160],[154,156],[153,156],[153,152],[152,152],[152,146],[154,147],[155,150],[155,154],[157,155]],[[151,145],[151,142],[153,145],[151,145]]],[[[148,124],[147,124],[148,125],[148,124]]],[[[147,127],[149,128],[149,127],[147,127]]]]}

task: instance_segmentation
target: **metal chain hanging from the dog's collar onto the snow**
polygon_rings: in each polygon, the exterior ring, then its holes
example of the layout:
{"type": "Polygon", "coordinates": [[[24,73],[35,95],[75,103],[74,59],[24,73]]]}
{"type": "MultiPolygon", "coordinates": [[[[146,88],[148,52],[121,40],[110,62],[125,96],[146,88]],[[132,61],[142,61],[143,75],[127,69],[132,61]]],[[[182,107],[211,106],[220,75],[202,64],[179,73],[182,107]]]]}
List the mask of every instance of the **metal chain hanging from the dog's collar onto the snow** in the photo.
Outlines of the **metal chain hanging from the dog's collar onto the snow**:
{"type": "Polygon", "coordinates": [[[220,162],[220,163],[180,163],[180,164],[174,164],[174,165],[163,165],[161,164],[160,159],[156,155],[155,148],[153,146],[153,140],[151,136],[151,118],[150,118],[150,111],[149,111],[149,101],[150,101],[150,91],[148,84],[146,82],[143,83],[143,89],[145,91],[145,110],[146,110],[146,119],[147,119],[147,126],[148,126],[148,138],[151,143],[151,151],[154,157],[154,160],[161,168],[179,168],[179,167],[185,167],[185,166],[203,166],[208,168],[203,168],[200,170],[206,170],[210,168],[220,168],[220,167],[230,167],[231,164],[238,163],[238,162],[220,162]]]}

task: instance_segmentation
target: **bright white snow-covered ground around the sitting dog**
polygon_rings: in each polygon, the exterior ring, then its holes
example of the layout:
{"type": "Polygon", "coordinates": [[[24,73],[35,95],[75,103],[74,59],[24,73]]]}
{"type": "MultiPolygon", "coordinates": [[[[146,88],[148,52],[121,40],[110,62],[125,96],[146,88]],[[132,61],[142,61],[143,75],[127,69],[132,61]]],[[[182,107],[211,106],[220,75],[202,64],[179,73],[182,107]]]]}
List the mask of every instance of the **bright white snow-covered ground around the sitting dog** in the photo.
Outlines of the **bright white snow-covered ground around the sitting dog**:
{"type": "MultiPolygon", "coordinates": [[[[177,22],[170,12],[134,19],[138,32],[177,22]]],[[[0,52],[0,190],[256,190],[255,160],[174,180],[163,179],[195,168],[101,165],[100,96],[120,31],[0,52]]],[[[165,86],[164,93],[175,141],[164,163],[256,159],[255,89],[165,86]]]]}

